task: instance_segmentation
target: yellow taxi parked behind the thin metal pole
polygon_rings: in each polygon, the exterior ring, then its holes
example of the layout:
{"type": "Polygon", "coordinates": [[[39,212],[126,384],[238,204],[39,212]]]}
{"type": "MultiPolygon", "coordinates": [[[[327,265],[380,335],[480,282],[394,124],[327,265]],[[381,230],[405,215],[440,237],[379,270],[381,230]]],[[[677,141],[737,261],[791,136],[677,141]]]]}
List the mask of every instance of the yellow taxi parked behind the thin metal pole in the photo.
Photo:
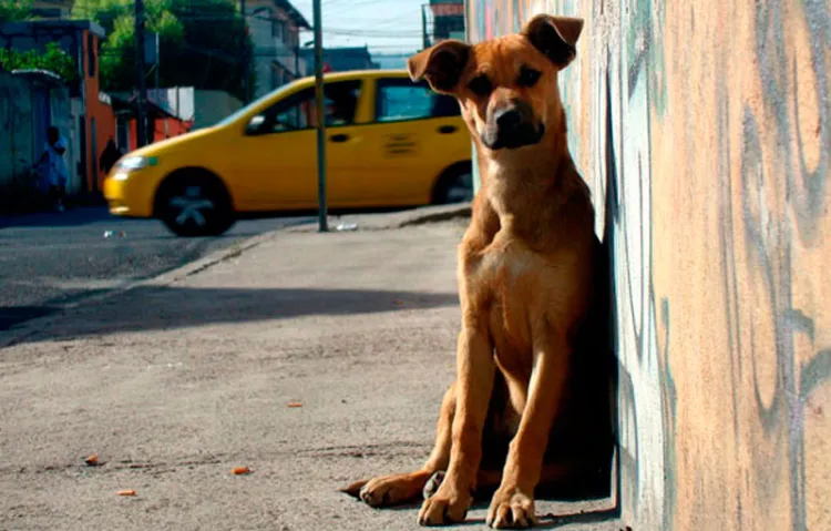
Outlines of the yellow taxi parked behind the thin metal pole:
{"type": "MultiPolygon", "coordinates": [[[[330,73],[324,92],[329,207],[472,197],[470,134],[454,99],[403,70],[330,73]]],[[[243,215],[317,208],[317,123],[315,80],[297,80],[212,127],[122,157],[104,182],[110,212],[203,236],[243,215]]]]}

